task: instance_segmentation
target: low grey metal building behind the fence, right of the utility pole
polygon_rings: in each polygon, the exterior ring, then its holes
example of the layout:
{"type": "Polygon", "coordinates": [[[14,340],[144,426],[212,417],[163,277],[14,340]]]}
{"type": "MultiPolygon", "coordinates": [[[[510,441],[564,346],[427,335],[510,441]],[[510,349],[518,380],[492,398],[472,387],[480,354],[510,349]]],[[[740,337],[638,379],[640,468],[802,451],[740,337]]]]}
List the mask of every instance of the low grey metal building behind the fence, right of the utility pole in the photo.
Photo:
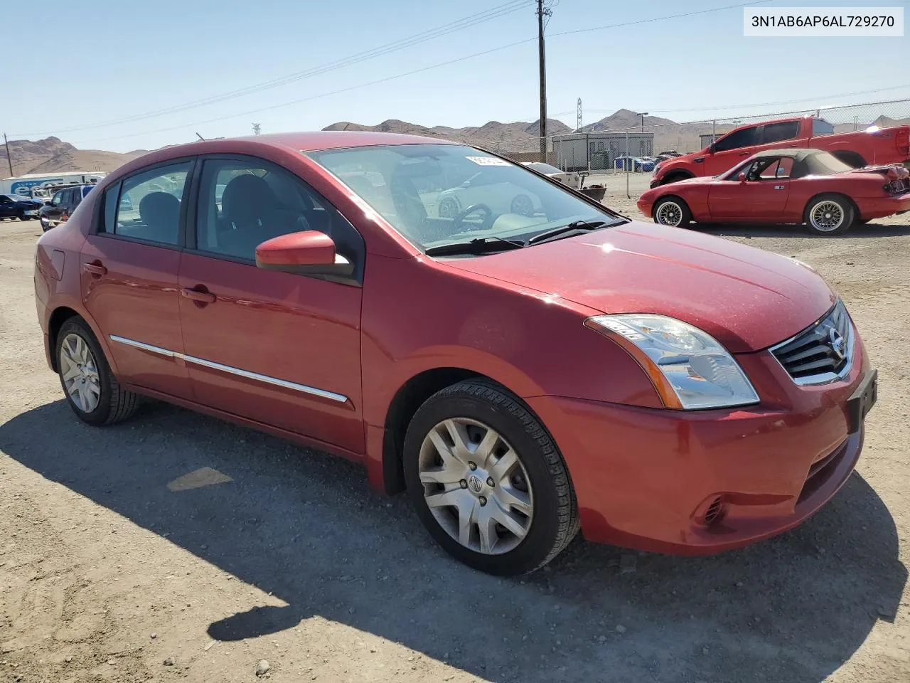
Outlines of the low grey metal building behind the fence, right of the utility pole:
{"type": "Polygon", "coordinates": [[[654,134],[572,133],[553,138],[552,163],[567,171],[613,168],[617,157],[651,157],[654,134]]]}

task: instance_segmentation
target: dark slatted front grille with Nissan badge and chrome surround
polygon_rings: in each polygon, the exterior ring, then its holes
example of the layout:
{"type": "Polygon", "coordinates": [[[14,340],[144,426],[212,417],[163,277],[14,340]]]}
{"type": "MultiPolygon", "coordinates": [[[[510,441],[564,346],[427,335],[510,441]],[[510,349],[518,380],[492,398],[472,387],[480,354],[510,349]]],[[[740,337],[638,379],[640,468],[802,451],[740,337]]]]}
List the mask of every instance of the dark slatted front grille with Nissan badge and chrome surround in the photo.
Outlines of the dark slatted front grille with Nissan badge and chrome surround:
{"type": "Polygon", "coordinates": [[[771,349],[797,384],[832,382],[849,369],[854,333],[842,301],[822,320],[771,349]]]}

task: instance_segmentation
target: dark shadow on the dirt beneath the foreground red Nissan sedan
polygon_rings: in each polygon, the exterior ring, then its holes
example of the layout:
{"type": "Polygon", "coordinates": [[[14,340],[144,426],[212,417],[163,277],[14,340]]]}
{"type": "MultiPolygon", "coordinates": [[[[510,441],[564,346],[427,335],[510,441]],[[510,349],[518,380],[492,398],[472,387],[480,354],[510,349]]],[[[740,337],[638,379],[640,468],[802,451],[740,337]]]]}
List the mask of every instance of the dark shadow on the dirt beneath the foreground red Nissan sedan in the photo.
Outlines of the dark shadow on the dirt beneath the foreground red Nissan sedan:
{"type": "Polygon", "coordinates": [[[106,429],[45,404],[0,425],[0,449],[287,603],[225,614],[211,637],[319,616],[492,681],[816,683],[894,620],[907,577],[859,474],[805,525],[741,551],[579,542],[499,579],[444,556],[356,465],[165,404],[106,429]]]}

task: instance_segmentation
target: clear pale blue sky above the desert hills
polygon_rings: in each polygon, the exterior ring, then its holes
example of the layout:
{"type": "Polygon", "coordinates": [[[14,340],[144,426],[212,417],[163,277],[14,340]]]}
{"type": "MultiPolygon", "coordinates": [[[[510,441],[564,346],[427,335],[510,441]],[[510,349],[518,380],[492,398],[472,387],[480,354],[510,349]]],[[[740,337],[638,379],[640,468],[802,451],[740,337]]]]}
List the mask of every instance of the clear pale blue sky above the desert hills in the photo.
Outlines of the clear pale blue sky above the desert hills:
{"type": "MultiPolygon", "coordinates": [[[[736,4],[548,0],[551,117],[574,126],[578,97],[586,123],[622,107],[685,121],[910,98],[910,37],[746,38],[743,9],[730,6],[736,4]],[[717,11],[643,21],[712,9],[717,11]],[[641,23],[622,25],[630,22],[641,23]],[[598,26],[613,27],[582,30],[598,26]],[[565,32],[577,33],[559,35],[565,32]]],[[[539,111],[534,5],[532,0],[81,5],[44,0],[36,15],[26,11],[40,19],[34,30],[4,22],[0,55],[7,75],[23,89],[3,89],[0,130],[11,138],[56,135],[79,148],[127,151],[185,142],[197,131],[205,138],[246,135],[253,122],[270,133],[319,129],[339,120],[377,124],[399,118],[451,127],[491,119],[533,121],[539,111]],[[478,21],[497,8],[500,15],[478,21]],[[379,56],[350,59],[461,20],[468,26],[379,56]],[[496,49],[519,41],[525,42],[496,49]],[[460,59],[490,50],[495,51],[460,59]],[[186,107],[295,74],[308,75],[186,107]],[[147,116],[168,108],[177,110],[147,116]]]]}

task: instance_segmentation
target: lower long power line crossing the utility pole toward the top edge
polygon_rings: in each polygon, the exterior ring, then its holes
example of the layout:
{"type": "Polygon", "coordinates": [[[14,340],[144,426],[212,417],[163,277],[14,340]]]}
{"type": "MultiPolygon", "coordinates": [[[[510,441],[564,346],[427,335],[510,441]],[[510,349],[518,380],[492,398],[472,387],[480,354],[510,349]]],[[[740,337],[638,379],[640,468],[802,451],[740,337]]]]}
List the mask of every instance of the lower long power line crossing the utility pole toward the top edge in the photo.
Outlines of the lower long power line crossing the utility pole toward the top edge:
{"type": "MultiPolygon", "coordinates": [[[[592,31],[602,31],[602,30],[606,30],[606,29],[610,29],[610,28],[619,28],[619,27],[627,26],[627,25],[645,24],[645,23],[651,23],[651,22],[655,22],[655,21],[662,21],[662,20],[665,20],[665,19],[675,19],[675,18],[679,18],[679,17],[682,17],[682,16],[704,15],[704,14],[710,14],[710,13],[713,13],[713,12],[721,12],[721,11],[723,11],[723,10],[732,9],[732,8],[735,8],[735,7],[745,7],[745,6],[748,6],[748,5],[756,5],[756,4],[768,3],[768,2],[773,2],[773,0],[752,0],[752,2],[738,3],[738,4],[736,4],[736,5],[723,5],[722,7],[712,7],[712,8],[709,8],[709,9],[703,9],[703,10],[698,10],[698,11],[694,11],[694,12],[686,12],[686,13],[675,14],[675,15],[654,16],[654,17],[651,17],[651,18],[648,18],[648,19],[641,19],[641,20],[632,21],[632,22],[623,22],[623,23],[621,23],[621,24],[611,24],[611,25],[593,26],[593,27],[591,27],[591,28],[581,28],[581,29],[574,30],[574,31],[564,31],[564,32],[558,33],[558,34],[551,34],[551,37],[576,35],[576,34],[579,34],[579,33],[589,33],[589,32],[592,32],[592,31]]],[[[525,3],[525,4],[527,4],[527,3],[525,3]]],[[[196,122],[192,122],[192,123],[181,124],[181,125],[178,125],[178,126],[170,126],[170,127],[164,127],[164,128],[157,128],[157,129],[155,129],[155,130],[147,130],[147,131],[143,131],[143,132],[140,132],[140,133],[131,133],[131,134],[127,134],[127,135],[115,136],[115,137],[110,137],[110,138],[96,138],[95,140],[86,140],[86,141],[84,141],[84,142],[82,142],[82,143],[77,143],[77,144],[87,144],[87,143],[94,143],[94,142],[106,142],[106,141],[108,141],[108,140],[119,140],[119,139],[126,139],[126,138],[136,138],[136,137],[143,136],[143,135],[152,135],[152,134],[155,134],[155,133],[164,133],[164,132],[168,132],[168,131],[171,131],[171,130],[179,130],[179,129],[186,128],[186,127],[199,126],[199,125],[204,125],[204,124],[208,124],[208,123],[217,123],[217,122],[219,122],[219,121],[225,121],[225,120],[227,120],[227,119],[229,119],[229,118],[246,117],[246,116],[249,116],[249,115],[252,115],[252,114],[258,114],[258,113],[263,112],[263,111],[270,111],[270,110],[272,110],[272,109],[278,109],[278,108],[281,108],[281,107],[290,107],[290,106],[293,106],[293,105],[301,104],[301,103],[303,103],[303,102],[310,102],[310,101],[312,101],[312,100],[314,100],[314,99],[320,99],[320,98],[322,98],[322,97],[330,97],[330,96],[332,96],[332,95],[339,95],[339,94],[341,94],[341,93],[350,92],[351,90],[358,90],[358,89],[361,88],[361,87],[369,87],[369,86],[379,85],[379,84],[381,84],[381,83],[388,83],[389,81],[392,81],[392,80],[397,80],[397,79],[399,79],[399,78],[404,78],[404,77],[406,77],[406,76],[414,76],[414,75],[416,75],[416,74],[420,74],[420,73],[423,73],[423,72],[426,72],[426,71],[430,71],[430,70],[433,70],[433,69],[437,69],[437,68],[440,68],[440,67],[442,67],[442,66],[450,66],[450,65],[452,65],[452,64],[457,64],[457,63],[463,62],[463,61],[465,61],[465,60],[467,60],[467,59],[473,59],[474,57],[491,55],[491,54],[493,54],[493,53],[495,53],[495,52],[500,52],[501,50],[506,50],[506,49],[509,49],[509,48],[511,48],[511,47],[516,47],[516,46],[524,45],[524,44],[526,44],[526,43],[531,43],[531,42],[536,41],[536,40],[538,40],[538,36],[534,36],[534,37],[531,37],[531,38],[525,38],[524,40],[517,40],[517,41],[515,41],[515,42],[513,42],[513,43],[509,43],[509,44],[507,44],[507,45],[502,45],[502,46],[498,46],[498,47],[491,47],[491,48],[488,49],[488,50],[483,50],[483,51],[481,51],[481,52],[476,52],[476,53],[473,53],[473,54],[471,54],[471,55],[465,55],[465,56],[456,57],[456,58],[454,58],[454,59],[449,59],[449,60],[446,60],[446,61],[444,61],[444,62],[439,62],[439,63],[437,63],[437,64],[430,65],[430,66],[423,66],[423,67],[421,67],[421,68],[419,68],[419,69],[413,69],[413,70],[411,70],[411,71],[407,71],[407,72],[404,72],[404,73],[401,73],[401,74],[396,74],[396,75],[394,75],[394,76],[386,76],[386,77],[384,77],[384,78],[379,78],[379,79],[377,79],[377,80],[368,81],[368,82],[366,82],[366,83],[360,83],[359,85],[356,85],[356,86],[344,87],[344,88],[340,88],[340,89],[338,89],[338,90],[332,90],[332,91],[329,91],[329,92],[326,92],[326,93],[321,93],[321,94],[319,94],[319,95],[314,95],[314,96],[310,96],[310,97],[302,97],[302,98],[299,98],[299,99],[290,100],[290,101],[288,101],[288,102],[282,102],[282,103],[279,103],[279,104],[276,104],[276,105],[270,105],[270,106],[268,106],[268,107],[258,107],[258,108],[256,108],[256,109],[250,109],[250,110],[248,110],[248,111],[240,112],[240,113],[238,113],[238,114],[229,114],[229,115],[226,115],[226,116],[223,116],[223,117],[209,118],[209,119],[206,119],[206,120],[204,120],[204,121],[196,121],[196,122]]],[[[99,124],[99,125],[97,125],[97,126],[92,126],[92,127],[93,127],[93,128],[94,128],[94,127],[101,127],[101,126],[104,126],[104,125],[112,125],[112,124],[99,124]]],[[[78,129],[79,129],[79,130],[84,130],[84,129],[87,129],[87,128],[88,128],[88,127],[80,127],[80,128],[78,128],[78,129]]],[[[56,132],[57,132],[57,133],[62,133],[62,132],[66,132],[66,130],[60,130],[60,131],[56,131],[56,132]]],[[[44,135],[44,133],[42,133],[42,134],[32,133],[31,135],[44,135]]],[[[24,135],[23,137],[25,137],[25,135],[24,135]]]]}

